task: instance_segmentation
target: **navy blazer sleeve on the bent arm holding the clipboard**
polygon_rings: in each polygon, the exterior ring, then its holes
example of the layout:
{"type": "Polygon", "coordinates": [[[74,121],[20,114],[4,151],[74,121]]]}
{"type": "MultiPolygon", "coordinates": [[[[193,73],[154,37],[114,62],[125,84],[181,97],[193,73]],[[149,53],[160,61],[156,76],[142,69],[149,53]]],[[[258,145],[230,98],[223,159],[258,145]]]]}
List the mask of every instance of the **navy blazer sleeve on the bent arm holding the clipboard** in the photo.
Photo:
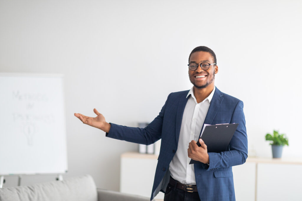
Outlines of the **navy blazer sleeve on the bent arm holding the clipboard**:
{"type": "Polygon", "coordinates": [[[239,101],[233,111],[230,123],[239,123],[229,144],[229,151],[209,154],[207,171],[227,168],[245,163],[248,153],[246,122],[243,113],[243,102],[239,101]]]}

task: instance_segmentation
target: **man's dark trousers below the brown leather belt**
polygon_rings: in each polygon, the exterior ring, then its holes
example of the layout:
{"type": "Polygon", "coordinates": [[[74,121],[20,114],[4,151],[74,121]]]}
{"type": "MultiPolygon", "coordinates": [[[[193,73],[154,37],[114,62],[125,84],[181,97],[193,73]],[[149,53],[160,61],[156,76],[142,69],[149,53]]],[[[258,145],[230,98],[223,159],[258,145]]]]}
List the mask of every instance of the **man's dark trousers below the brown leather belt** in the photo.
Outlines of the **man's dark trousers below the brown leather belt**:
{"type": "Polygon", "coordinates": [[[169,183],[166,189],[164,201],[200,201],[200,199],[198,192],[186,192],[169,183]]]}

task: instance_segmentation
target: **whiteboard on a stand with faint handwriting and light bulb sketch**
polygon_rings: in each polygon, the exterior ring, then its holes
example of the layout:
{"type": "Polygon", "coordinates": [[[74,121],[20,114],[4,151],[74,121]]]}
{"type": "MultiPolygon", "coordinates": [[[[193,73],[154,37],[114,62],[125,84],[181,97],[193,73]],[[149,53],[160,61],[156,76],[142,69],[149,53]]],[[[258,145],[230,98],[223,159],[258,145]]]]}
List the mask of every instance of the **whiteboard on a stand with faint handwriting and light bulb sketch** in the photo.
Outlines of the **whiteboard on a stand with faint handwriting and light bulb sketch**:
{"type": "Polygon", "coordinates": [[[0,73],[0,175],[65,172],[63,76],[0,73]]]}

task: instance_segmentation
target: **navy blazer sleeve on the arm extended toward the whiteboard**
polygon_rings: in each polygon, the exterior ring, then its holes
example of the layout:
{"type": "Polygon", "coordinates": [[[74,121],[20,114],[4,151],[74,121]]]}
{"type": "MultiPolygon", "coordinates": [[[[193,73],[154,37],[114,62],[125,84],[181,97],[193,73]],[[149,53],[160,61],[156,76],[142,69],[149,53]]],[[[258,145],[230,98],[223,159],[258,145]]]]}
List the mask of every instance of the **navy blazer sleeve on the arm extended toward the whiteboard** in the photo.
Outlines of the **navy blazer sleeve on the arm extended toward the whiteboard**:
{"type": "Polygon", "coordinates": [[[144,145],[153,144],[157,140],[161,139],[165,108],[170,95],[171,94],[169,94],[164,106],[162,107],[162,110],[159,112],[159,115],[156,116],[156,118],[149,123],[146,128],[128,127],[110,123],[111,128],[109,132],[106,133],[106,136],[144,145]]]}

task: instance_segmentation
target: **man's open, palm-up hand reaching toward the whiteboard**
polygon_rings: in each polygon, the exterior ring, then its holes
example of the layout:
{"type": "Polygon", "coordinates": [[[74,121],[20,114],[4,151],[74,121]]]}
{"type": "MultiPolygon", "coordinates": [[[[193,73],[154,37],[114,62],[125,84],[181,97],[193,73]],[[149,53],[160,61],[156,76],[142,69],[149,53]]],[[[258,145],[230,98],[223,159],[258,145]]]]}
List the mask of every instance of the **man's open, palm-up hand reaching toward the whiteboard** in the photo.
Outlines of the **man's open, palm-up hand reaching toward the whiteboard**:
{"type": "Polygon", "coordinates": [[[80,113],[75,113],[74,115],[79,118],[83,123],[93,126],[95,128],[101,129],[104,132],[109,132],[111,125],[106,122],[105,117],[98,112],[98,110],[93,109],[94,113],[97,115],[96,117],[89,117],[82,115],[80,113]]]}

